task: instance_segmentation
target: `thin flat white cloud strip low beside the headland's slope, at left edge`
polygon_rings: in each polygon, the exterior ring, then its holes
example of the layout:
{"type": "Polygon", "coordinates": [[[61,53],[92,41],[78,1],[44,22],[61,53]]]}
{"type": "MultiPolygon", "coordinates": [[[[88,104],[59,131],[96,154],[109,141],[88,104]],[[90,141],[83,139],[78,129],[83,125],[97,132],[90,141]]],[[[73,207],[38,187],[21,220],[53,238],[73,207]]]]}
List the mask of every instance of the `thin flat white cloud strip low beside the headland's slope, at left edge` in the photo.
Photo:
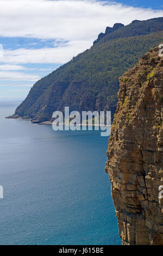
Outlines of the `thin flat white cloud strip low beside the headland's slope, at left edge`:
{"type": "Polygon", "coordinates": [[[39,76],[24,74],[22,72],[0,71],[0,81],[31,81],[39,80],[39,76]]]}

